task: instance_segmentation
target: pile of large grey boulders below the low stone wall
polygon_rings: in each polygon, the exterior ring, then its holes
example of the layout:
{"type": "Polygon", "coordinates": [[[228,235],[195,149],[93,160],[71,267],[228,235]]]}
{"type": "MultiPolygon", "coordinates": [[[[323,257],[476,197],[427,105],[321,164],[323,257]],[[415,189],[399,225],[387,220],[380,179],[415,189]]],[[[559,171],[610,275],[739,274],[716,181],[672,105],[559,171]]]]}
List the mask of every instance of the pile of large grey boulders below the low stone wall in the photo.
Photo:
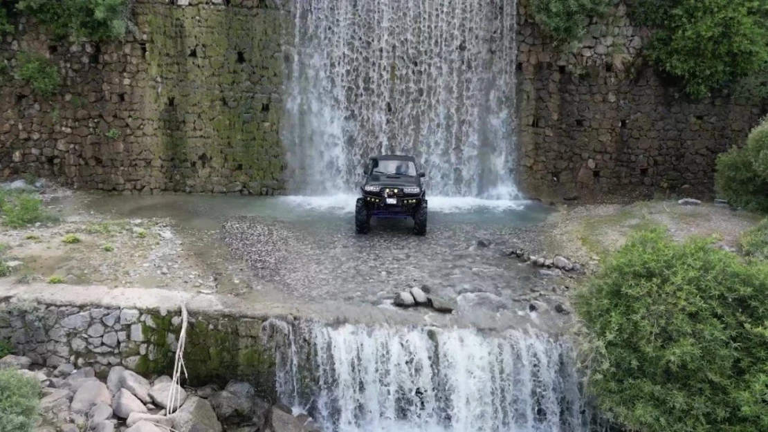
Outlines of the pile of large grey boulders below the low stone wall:
{"type": "Polygon", "coordinates": [[[263,401],[245,382],[231,381],[223,390],[216,385],[184,389],[167,376],[149,381],[121,366],[101,381],[93,368],[61,364],[30,370],[33,365],[23,356],[0,359],[0,367],[17,368],[41,384],[38,432],[319,431],[310,417],[294,417],[289,407],[263,401]]]}

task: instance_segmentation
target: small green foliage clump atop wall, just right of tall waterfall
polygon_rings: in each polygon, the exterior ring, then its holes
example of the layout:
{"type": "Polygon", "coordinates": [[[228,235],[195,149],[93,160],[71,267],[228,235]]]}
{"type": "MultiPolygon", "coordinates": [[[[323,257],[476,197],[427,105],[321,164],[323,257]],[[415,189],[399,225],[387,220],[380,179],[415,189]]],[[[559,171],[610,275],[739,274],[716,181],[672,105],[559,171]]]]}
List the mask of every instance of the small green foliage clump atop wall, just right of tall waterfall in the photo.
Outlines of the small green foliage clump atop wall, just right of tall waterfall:
{"type": "Polygon", "coordinates": [[[611,0],[531,0],[536,24],[555,41],[576,41],[584,35],[584,23],[605,12],[611,0]]]}

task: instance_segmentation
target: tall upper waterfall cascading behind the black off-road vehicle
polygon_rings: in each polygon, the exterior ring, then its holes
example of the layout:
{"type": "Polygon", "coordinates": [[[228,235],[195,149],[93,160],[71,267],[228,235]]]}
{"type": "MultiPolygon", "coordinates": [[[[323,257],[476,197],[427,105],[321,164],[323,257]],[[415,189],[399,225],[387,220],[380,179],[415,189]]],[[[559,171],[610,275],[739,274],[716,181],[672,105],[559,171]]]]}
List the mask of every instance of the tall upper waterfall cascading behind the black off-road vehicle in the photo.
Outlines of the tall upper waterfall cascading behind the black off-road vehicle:
{"type": "Polygon", "coordinates": [[[414,154],[432,195],[517,199],[517,0],[293,0],[287,175],[343,193],[379,153],[414,154]]]}

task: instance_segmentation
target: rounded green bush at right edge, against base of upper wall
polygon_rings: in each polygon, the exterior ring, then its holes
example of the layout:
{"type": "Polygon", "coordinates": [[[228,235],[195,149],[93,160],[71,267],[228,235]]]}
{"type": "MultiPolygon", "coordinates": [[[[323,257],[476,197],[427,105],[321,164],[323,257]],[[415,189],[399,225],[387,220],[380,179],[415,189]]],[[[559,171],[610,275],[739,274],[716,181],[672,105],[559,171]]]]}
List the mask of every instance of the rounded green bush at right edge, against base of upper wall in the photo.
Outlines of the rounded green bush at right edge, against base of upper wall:
{"type": "Polygon", "coordinates": [[[752,130],[745,147],[717,157],[715,188],[732,206],[768,213],[768,118],[752,130]]]}

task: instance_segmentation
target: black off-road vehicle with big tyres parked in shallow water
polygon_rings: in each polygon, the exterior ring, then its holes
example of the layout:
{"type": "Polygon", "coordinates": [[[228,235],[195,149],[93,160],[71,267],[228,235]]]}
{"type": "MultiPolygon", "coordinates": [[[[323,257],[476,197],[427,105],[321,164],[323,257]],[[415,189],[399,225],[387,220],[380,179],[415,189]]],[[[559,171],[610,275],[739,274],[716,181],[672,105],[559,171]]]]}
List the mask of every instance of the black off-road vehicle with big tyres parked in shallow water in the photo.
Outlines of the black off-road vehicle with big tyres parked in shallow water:
{"type": "Polygon", "coordinates": [[[362,183],[362,196],[355,207],[355,229],[365,234],[371,227],[371,218],[413,218],[413,233],[427,233],[427,200],[422,178],[425,173],[416,170],[412,156],[374,156],[366,167],[366,181],[362,183]]]}

